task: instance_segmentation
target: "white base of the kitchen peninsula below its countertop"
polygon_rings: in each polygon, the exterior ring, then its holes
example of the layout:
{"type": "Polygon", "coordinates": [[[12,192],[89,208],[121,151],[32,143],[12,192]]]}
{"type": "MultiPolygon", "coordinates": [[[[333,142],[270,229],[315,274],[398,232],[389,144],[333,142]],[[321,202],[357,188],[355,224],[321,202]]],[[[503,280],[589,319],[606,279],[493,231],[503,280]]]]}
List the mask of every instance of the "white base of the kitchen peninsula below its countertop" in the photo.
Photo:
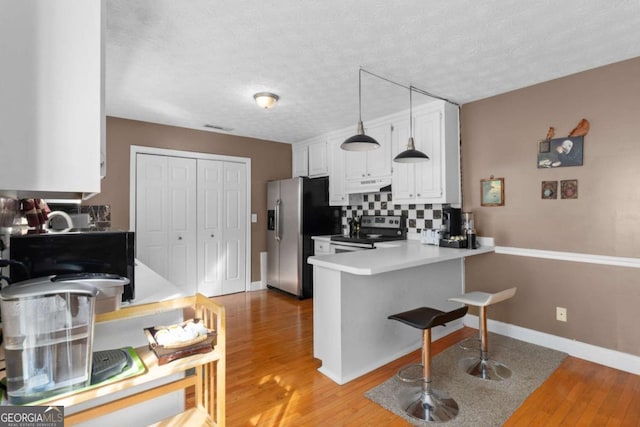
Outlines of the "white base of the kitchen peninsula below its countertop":
{"type": "MultiPolygon", "coordinates": [[[[322,361],[319,371],[338,384],[421,347],[421,331],[389,315],[420,306],[454,309],[459,304],[448,298],[463,290],[463,259],[371,276],[315,270],[314,355],[322,361]]],[[[461,320],[437,327],[433,339],[461,327],[461,320]]]]}

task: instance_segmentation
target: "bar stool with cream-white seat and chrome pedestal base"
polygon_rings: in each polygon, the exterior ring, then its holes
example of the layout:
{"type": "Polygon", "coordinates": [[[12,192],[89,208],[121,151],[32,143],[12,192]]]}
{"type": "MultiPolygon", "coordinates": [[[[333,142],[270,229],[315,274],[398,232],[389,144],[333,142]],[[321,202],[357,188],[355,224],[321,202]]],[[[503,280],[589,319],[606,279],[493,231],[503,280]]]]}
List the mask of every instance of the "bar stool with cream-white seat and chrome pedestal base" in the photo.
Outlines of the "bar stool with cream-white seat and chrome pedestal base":
{"type": "Polygon", "coordinates": [[[470,375],[486,380],[500,381],[511,377],[511,370],[500,362],[489,359],[489,340],[487,338],[487,307],[513,297],[516,288],[490,294],[488,292],[468,292],[449,301],[459,302],[467,306],[473,305],[480,311],[480,357],[466,357],[460,360],[460,366],[470,375]]]}

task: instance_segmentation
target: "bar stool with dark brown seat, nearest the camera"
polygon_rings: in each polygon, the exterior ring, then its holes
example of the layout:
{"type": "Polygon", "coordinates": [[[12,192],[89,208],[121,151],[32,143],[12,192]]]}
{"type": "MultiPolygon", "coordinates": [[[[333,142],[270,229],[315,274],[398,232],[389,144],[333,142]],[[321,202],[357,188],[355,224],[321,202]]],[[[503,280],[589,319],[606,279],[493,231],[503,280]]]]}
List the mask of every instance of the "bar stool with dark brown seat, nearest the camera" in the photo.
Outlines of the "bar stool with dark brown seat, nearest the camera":
{"type": "Polygon", "coordinates": [[[448,421],[458,415],[458,404],[441,392],[431,389],[431,328],[459,319],[468,307],[444,312],[435,308],[420,307],[389,316],[417,329],[422,329],[422,387],[415,399],[405,408],[412,417],[424,421],[448,421]]]}

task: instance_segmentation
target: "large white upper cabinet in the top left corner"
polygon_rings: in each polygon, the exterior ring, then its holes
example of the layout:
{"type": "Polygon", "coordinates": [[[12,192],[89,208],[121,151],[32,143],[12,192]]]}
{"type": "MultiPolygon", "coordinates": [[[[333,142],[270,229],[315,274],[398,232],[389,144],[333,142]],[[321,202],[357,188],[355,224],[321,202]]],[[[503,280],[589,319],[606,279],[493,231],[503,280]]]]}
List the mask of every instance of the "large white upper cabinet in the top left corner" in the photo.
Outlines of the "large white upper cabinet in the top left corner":
{"type": "Polygon", "coordinates": [[[100,191],[104,2],[6,1],[0,13],[0,190],[100,191]]]}

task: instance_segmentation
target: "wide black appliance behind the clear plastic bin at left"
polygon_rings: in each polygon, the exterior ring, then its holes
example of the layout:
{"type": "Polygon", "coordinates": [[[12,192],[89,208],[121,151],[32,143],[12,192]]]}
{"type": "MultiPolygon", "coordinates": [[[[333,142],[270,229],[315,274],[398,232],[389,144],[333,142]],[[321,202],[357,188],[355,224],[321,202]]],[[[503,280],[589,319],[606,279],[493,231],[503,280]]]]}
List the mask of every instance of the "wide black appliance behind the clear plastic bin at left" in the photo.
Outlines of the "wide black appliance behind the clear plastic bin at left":
{"type": "Polygon", "coordinates": [[[12,235],[9,240],[12,283],[35,277],[107,273],[129,279],[122,301],[135,298],[135,233],[86,231],[12,235]]]}

